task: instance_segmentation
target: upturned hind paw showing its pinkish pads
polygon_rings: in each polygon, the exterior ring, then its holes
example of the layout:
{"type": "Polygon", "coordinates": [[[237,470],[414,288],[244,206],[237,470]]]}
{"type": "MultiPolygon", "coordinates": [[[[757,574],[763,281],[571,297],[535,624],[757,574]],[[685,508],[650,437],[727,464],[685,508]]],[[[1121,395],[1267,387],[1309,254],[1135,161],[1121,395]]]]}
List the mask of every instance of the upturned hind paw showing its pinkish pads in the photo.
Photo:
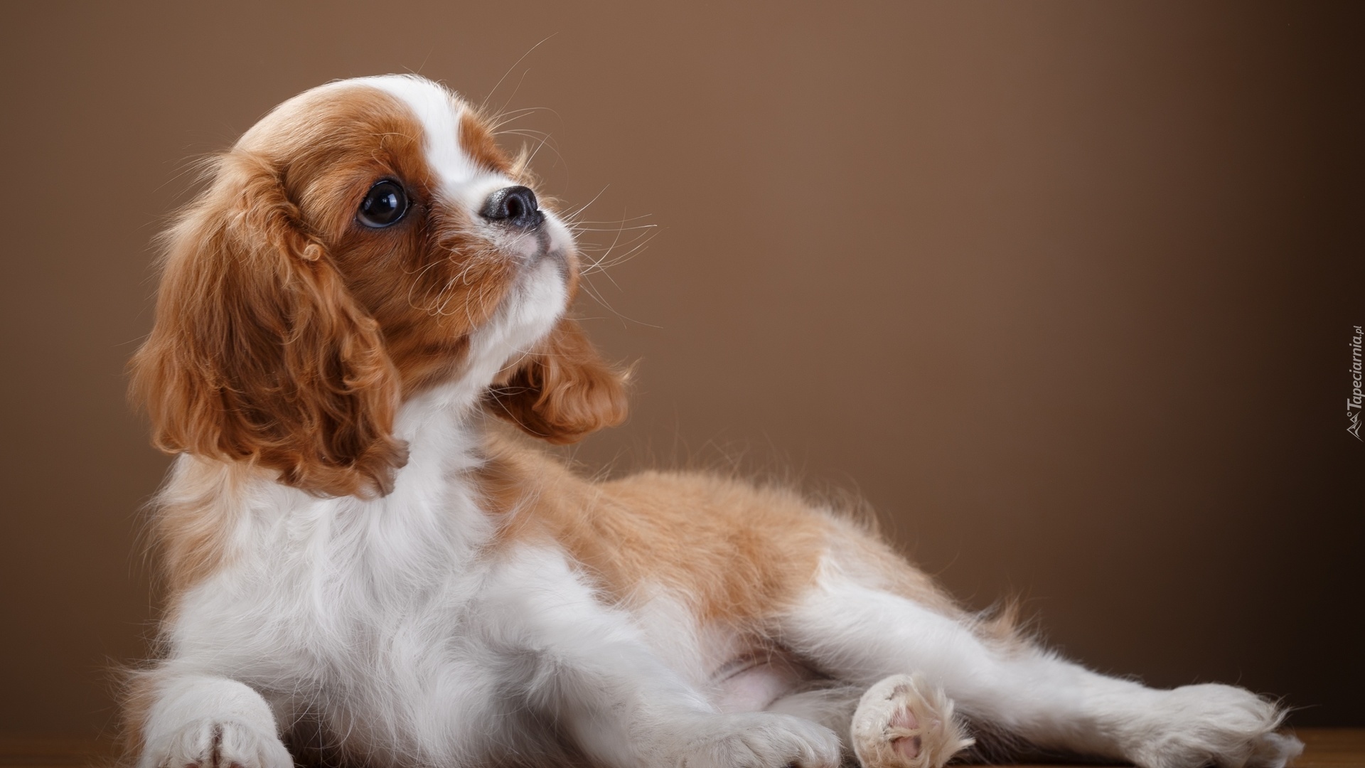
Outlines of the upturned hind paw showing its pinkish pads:
{"type": "Polygon", "coordinates": [[[920,675],[891,675],[870,687],[849,735],[864,768],[939,768],[973,743],[943,689],[920,675]]]}

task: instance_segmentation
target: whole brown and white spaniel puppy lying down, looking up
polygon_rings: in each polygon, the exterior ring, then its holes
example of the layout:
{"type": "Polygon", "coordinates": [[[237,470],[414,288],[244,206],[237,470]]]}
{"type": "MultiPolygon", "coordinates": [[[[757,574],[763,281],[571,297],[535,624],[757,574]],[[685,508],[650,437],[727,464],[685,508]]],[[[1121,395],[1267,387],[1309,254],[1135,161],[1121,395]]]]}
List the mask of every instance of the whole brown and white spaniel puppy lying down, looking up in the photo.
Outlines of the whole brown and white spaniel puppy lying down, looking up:
{"type": "Polygon", "coordinates": [[[936,768],[973,732],[1149,768],[1298,753],[1272,702],[1065,661],[790,491],[542,455],[627,402],[532,186],[418,77],[303,93],[213,161],[132,361],[179,454],[141,768],[936,768]]]}

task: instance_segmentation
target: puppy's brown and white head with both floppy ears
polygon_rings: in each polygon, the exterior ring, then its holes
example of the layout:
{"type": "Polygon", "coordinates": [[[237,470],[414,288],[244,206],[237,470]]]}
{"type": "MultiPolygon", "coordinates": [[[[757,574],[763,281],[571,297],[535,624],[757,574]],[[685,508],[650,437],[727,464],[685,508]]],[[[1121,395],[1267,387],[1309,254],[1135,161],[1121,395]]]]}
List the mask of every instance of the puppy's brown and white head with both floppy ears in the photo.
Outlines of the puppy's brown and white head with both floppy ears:
{"type": "Polygon", "coordinates": [[[564,317],[573,239],[532,186],[475,109],[422,78],[277,107],[164,235],[132,361],[156,444],[367,496],[407,461],[399,404],[437,384],[554,443],[620,422],[622,374],[564,317]]]}

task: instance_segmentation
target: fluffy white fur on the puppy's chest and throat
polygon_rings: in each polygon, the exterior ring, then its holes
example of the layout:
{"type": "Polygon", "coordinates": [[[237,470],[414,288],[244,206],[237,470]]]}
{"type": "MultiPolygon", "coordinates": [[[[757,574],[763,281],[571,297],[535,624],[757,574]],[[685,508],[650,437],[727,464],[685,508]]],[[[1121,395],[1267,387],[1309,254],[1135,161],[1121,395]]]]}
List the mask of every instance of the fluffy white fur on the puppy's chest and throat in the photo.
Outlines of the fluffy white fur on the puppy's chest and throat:
{"type": "MultiPolygon", "coordinates": [[[[423,702],[478,704],[493,685],[478,614],[494,523],[468,481],[474,435],[442,395],[404,407],[411,461],[385,497],[317,499],[262,473],[217,499],[236,506],[218,515],[231,521],[225,562],[177,607],[176,671],[246,682],[277,720],[307,709],[386,731],[379,743],[422,741],[423,702]]],[[[168,495],[205,471],[221,470],[183,459],[168,495]]],[[[446,731],[489,713],[450,715],[446,731]]]]}

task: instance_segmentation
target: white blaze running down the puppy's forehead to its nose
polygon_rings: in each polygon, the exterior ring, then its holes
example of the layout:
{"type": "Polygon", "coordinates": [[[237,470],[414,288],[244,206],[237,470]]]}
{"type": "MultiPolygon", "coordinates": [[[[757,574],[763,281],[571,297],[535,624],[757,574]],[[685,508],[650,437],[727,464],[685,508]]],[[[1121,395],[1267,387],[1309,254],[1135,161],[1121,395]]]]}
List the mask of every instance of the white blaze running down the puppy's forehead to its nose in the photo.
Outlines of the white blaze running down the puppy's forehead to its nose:
{"type": "Polygon", "coordinates": [[[508,184],[506,179],[479,168],[460,146],[460,118],[464,104],[440,85],[416,75],[382,75],[347,81],[377,87],[403,101],[426,133],[423,148],[426,160],[441,182],[441,194],[472,210],[494,190],[508,184]]]}

